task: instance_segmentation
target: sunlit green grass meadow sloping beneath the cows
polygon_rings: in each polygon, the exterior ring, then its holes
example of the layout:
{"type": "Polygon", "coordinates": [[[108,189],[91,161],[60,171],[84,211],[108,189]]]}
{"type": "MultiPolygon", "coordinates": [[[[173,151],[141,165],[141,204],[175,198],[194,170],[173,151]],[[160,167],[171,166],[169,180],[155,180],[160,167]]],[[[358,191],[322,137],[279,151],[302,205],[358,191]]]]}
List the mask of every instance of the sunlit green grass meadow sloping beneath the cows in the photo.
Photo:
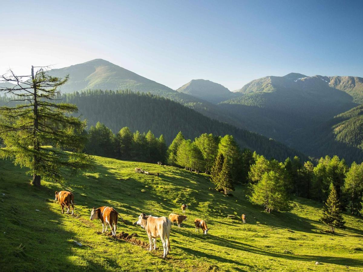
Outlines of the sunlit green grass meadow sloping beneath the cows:
{"type": "Polygon", "coordinates": [[[347,229],[331,235],[318,221],[322,205],[311,200],[296,198],[291,212],[267,214],[246,200],[245,186],[225,197],[209,189],[213,185],[204,174],[102,157],[96,163],[93,172],[64,184],[42,181],[38,189],[29,184],[24,169],[0,161],[0,271],[363,270],[360,218],[344,214],[347,229]],[[137,174],[135,167],[159,172],[160,178],[137,174]],[[74,192],[73,217],[62,215],[53,201],[54,191],[62,189],[74,192]],[[131,223],[142,212],[180,214],[182,203],[188,204],[188,220],[181,228],[172,227],[171,253],[165,260],[160,239],[150,253],[98,234],[101,223],[89,220],[92,207],[113,206],[130,222],[119,222],[118,233],[136,233],[148,242],[146,232],[131,223]],[[207,222],[208,235],[195,232],[196,217],[207,222]]]}

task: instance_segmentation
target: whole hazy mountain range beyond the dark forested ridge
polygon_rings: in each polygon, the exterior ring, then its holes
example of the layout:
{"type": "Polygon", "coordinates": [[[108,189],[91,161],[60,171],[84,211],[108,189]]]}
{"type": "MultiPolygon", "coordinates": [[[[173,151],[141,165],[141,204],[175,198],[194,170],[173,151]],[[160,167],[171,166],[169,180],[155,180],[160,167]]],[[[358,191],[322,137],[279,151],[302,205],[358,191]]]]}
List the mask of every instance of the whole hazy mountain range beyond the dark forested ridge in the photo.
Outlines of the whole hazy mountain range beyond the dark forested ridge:
{"type": "Polygon", "coordinates": [[[360,77],[290,73],[255,79],[231,92],[204,79],[193,79],[172,90],[103,59],[48,73],[70,75],[62,93],[97,89],[150,92],[209,118],[276,139],[309,156],[320,157],[334,150],[347,161],[363,160],[360,77]]]}

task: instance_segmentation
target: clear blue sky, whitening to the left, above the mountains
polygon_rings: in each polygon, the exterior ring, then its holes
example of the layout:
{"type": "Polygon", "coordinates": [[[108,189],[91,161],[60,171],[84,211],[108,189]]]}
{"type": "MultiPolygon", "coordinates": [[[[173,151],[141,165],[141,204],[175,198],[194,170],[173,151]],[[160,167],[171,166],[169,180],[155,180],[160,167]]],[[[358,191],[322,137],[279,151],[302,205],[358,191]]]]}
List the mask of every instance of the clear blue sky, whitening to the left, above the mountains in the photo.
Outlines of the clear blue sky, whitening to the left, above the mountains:
{"type": "Polygon", "coordinates": [[[363,77],[360,1],[0,0],[0,74],[103,58],[178,88],[267,75],[363,77]]]}

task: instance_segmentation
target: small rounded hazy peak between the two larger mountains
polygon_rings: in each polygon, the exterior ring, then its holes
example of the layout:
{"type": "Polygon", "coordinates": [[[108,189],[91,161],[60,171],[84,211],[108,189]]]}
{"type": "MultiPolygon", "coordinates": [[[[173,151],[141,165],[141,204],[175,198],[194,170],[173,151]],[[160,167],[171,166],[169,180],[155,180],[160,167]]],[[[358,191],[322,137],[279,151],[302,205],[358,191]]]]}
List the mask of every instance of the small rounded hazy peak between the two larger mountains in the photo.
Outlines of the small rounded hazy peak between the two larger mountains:
{"type": "Polygon", "coordinates": [[[176,91],[204,99],[211,103],[219,103],[238,95],[218,83],[204,79],[193,79],[176,91]]]}

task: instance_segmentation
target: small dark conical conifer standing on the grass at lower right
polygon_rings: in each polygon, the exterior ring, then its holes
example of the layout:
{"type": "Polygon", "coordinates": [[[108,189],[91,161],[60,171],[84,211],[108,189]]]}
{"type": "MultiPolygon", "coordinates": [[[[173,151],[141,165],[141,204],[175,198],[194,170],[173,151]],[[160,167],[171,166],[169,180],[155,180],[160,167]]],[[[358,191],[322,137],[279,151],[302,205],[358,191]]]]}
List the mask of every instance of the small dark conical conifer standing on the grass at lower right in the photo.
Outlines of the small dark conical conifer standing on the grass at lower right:
{"type": "Polygon", "coordinates": [[[340,210],[340,203],[335,190],[335,186],[332,183],[330,194],[325,202],[323,209],[323,216],[320,219],[325,225],[330,227],[330,231],[334,233],[335,228],[344,228],[345,221],[340,210]]]}

